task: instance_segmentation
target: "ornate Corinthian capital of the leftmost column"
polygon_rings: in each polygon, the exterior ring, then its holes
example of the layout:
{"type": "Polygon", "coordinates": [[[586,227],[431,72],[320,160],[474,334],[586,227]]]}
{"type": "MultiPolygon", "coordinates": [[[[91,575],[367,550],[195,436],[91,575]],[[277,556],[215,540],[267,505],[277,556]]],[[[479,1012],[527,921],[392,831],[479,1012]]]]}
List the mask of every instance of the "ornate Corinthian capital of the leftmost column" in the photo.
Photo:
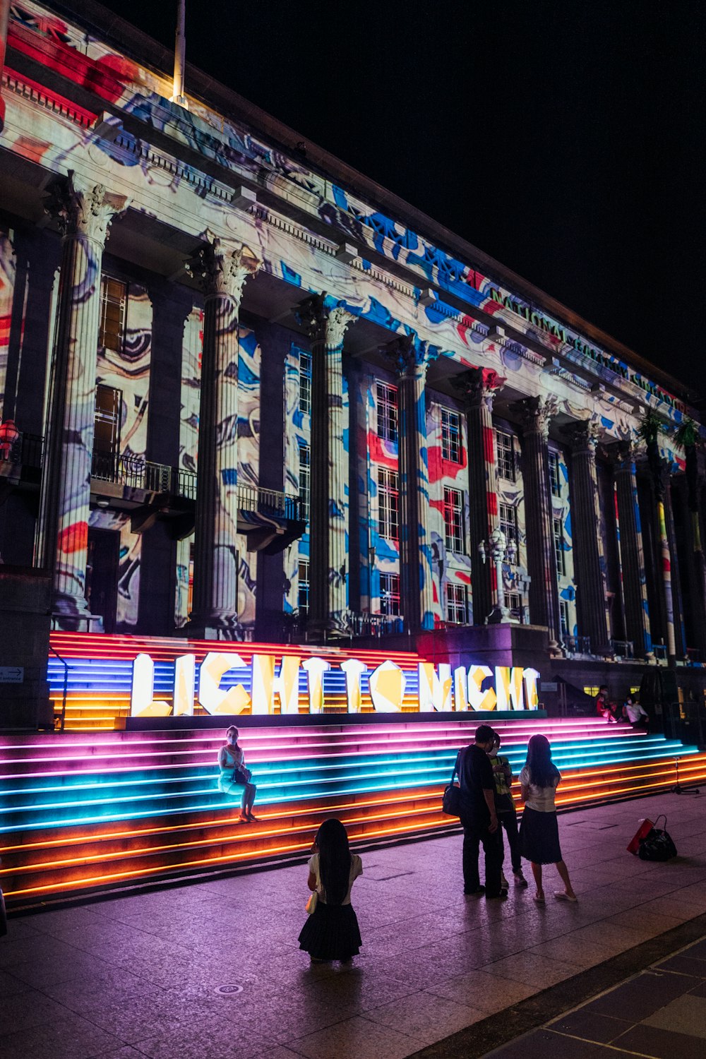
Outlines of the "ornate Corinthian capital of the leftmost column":
{"type": "Polygon", "coordinates": [[[128,204],[126,195],[115,195],[73,169],[53,180],[44,198],[44,211],[58,222],[64,236],[85,235],[102,246],[111,220],[128,204]]]}

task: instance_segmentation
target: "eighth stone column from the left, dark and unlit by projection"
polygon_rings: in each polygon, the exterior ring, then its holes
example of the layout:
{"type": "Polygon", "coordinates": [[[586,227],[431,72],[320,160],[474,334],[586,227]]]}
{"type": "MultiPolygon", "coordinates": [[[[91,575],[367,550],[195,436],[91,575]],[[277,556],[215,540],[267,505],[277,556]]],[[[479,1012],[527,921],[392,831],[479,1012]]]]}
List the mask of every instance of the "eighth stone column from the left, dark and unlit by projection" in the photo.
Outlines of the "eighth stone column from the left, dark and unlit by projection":
{"type": "Polygon", "coordinates": [[[645,548],[637,503],[635,445],[618,444],[615,464],[615,491],[618,502],[618,544],[626,615],[626,635],[632,641],[637,658],[651,660],[650,608],[645,575],[645,548]]]}

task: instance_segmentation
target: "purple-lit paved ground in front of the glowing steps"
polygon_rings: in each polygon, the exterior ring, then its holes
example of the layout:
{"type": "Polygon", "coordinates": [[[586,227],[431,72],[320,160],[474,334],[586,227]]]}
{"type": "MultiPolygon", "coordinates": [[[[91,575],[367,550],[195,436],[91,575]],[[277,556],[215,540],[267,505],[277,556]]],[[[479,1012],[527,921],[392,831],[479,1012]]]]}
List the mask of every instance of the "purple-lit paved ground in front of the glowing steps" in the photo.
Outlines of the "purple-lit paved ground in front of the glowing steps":
{"type": "Polygon", "coordinates": [[[464,897],[460,837],[368,851],[352,969],[310,968],[297,949],[302,865],[15,917],[0,940],[0,1059],[470,1059],[499,1046],[499,1059],[617,1059],[626,1033],[632,1055],[703,1057],[706,946],[607,989],[706,933],[705,806],[706,793],[665,794],[560,816],[577,904],[540,907],[531,886],[504,903],[464,897]],[[631,857],[638,819],[660,811],[680,857],[631,857]]]}

